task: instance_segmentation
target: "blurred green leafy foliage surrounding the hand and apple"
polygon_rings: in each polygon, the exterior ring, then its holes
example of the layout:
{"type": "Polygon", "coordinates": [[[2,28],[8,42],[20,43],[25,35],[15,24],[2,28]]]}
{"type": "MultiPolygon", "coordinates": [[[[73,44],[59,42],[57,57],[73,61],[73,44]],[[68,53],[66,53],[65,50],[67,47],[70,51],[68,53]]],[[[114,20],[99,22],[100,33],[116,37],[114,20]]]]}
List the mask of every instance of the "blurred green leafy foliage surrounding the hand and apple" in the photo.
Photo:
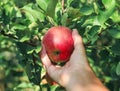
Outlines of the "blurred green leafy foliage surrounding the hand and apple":
{"type": "Polygon", "coordinates": [[[64,91],[45,81],[39,58],[56,25],[78,29],[96,75],[120,91],[120,0],[0,0],[0,90],[64,91]]]}

